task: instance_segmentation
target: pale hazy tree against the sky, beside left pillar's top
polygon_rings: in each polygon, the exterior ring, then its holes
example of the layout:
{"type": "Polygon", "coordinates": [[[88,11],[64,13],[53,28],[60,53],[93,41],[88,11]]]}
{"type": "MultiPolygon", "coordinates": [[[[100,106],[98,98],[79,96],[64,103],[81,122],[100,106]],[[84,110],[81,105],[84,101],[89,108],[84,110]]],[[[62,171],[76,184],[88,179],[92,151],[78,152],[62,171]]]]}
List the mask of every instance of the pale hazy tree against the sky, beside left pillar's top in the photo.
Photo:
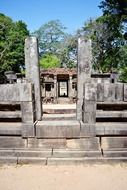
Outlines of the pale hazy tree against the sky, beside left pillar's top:
{"type": "Polygon", "coordinates": [[[66,35],[65,29],[59,20],[51,20],[35,31],[32,35],[39,40],[40,53],[57,55],[60,44],[66,35]]]}

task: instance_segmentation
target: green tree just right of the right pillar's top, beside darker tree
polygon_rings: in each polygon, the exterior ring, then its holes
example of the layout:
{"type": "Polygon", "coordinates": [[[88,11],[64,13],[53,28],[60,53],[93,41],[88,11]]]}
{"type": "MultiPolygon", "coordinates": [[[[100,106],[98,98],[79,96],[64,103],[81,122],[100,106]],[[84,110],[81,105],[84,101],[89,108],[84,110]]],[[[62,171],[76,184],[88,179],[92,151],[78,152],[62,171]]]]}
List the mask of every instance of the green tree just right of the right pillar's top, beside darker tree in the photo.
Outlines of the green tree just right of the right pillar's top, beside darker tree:
{"type": "Polygon", "coordinates": [[[122,34],[114,37],[110,30],[107,16],[90,20],[84,26],[84,35],[92,39],[93,67],[99,72],[110,72],[118,68],[121,61],[120,48],[123,42],[122,34]]]}

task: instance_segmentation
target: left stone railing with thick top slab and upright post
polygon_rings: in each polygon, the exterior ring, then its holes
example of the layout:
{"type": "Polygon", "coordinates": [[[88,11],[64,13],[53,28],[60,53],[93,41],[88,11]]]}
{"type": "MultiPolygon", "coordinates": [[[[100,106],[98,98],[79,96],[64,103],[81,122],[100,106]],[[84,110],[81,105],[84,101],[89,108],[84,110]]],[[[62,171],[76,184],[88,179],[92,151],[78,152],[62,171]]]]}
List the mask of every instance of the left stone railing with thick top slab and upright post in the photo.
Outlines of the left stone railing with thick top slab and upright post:
{"type": "Polygon", "coordinates": [[[35,100],[31,83],[0,85],[0,102],[2,104],[20,104],[22,119],[22,136],[33,137],[35,118],[35,100]]]}

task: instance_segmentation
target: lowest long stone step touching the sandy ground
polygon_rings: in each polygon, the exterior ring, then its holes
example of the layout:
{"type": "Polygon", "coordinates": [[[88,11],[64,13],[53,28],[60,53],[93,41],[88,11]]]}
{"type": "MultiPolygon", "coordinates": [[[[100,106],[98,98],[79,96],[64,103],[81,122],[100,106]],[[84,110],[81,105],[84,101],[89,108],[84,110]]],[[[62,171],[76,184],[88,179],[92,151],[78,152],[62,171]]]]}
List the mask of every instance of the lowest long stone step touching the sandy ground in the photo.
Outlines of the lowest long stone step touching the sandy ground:
{"type": "Polygon", "coordinates": [[[37,157],[0,157],[0,164],[39,164],[39,165],[86,165],[126,163],[127,157],[92,158],[37,158],[37,157]]]}

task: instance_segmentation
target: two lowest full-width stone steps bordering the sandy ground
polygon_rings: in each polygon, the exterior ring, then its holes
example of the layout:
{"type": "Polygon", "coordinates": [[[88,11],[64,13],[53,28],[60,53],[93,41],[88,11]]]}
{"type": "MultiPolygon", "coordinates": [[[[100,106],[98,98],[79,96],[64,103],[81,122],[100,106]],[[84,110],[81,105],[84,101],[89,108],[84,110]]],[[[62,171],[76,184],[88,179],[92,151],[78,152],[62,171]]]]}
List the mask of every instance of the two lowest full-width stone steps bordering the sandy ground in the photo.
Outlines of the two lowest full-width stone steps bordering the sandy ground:
{"type": "Polygon", "coordinates": [[[98,151],[0,149],[0,164],[79,165],[127,162],[127,151],[116,157],[98,151]]]}

